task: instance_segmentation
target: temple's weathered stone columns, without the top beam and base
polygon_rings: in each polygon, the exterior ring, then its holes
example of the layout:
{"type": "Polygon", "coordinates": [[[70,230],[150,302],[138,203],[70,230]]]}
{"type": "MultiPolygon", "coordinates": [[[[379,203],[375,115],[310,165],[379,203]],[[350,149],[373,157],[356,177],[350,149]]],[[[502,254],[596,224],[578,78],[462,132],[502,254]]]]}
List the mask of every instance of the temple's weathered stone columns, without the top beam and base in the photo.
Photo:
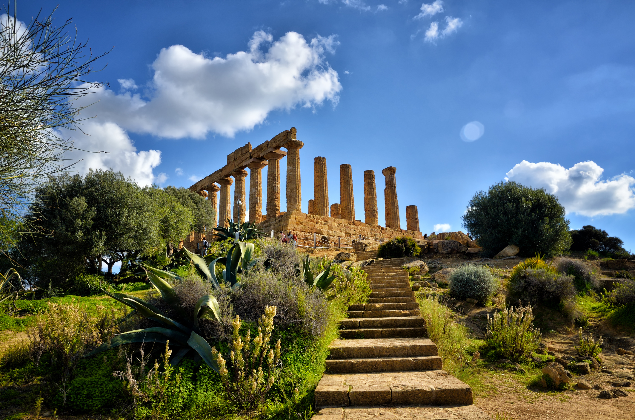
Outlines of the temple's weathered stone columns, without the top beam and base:
{"type": "MultiPolygon", "coordinates": [[[[283,147],[287,149],[286,157],[286,202],[287,211],[301,211],[302,190],[300,187],[300,148],[304,143],[299,140],[288,141],[283,147]]],[[[272,150],[262,158],[252,159],[247,166],[250,169],[249,183],[249,220],[255,223],[262,221],[262,168],[267,169],[267,219],[276,218],[280,214],[280,159],[285,153],[281,150],[272,150]]],[[[395,173],[397,169],[389,166],[382,170],[385,176],[384,202],[386,227],[401,229],[399,221],[399,202],[397,198],[397,181],[395,173]]],[[[247,171],[236,169],[231,173],[236,180],[234,186],[234,213],[231,215],[230,187],[234,180],[222,178],[218,180],[220,187],[211,184],[205,190],[208,192],[208,200],[216,209],[218,206],[218,220],[214,220],[214,226],[229,226],[228,220],[244,223],[246,216],[246,188],[245,178],[247,171]],[[217,192],[220,190],[220,200],[217,202],[217,192]]],[[[352,167],[349,164],[340,165],[340,202],[328,204],[328,181],[326,175],[326,158],[318,156],[314,161],[314,199],[309,200],[309,214],[319,216],[340,217],[345,220],[355,220],[355,202],[353,196],[352,167]]],[[[364,223],[368,225],[378,224],[377,186],[375,184],[375,171],[364,171],[364,223]]],[[[215,216],[216,217],[216,216],[215,216]]],[[[406,224],[408,230],[419,230],[417,206],[406,207],[406,224]]]]}

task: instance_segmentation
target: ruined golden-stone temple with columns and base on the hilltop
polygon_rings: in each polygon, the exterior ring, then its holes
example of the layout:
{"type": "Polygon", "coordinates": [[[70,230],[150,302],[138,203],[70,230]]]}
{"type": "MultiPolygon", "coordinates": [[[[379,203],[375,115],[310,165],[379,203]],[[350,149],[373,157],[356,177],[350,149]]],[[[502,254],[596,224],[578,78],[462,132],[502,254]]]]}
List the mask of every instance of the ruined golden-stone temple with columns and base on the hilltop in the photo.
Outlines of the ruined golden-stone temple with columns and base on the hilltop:
{"type": "MultiPolygon", "coordinates": [[[[386,226],[378,225],[375,171],[364,171],[364,221],[355,220],[352,168],[349,164],[340,166],[340,202],[329,205],[325,157],[315,158],[314,198],[309,200],[309,214],[302,213],[300,149],[303,146],[304,143],[296,138],[295,128],[283,131],[255,148],[251,147],[251,143],[247,143],[227,155],[227,164],[224,167],[192,185],[190,190],[206,196],[211,206],[217,210],[215,226],[218,224],[227,226],[227,219],[239,220],[243,223],[248,209],[249,220],[260,224],[260,228],[265,232],[273,230],[279,233],[291,230],[298,235],[300,241],[311,239],[315,243],[317,237],[319,246],[342,244],[342,241],[347,239],[362,237],[374,240],[392,239],[396,236],[423,239],[419,231],[417,206],[406,207],[406,230],[401,229],[394,166],[389,166],[382,171],[385,176],[386,226]],[[282,148],[286,151],[281,150],[282,148]],[[286,211],[281,212],[280,159],[284,156],[286,156],[286,211]],[[262,214],[262,168],[265,166],[269,167],[267,202],[265,214],[262,214]],[[246,168],[250,169],[249,200],[246,200],[246,168]],[[232,204],[230,187],[234,182],[232,204]]],[[[192,250],[197,249],[197,243],[202,242],[203,236],[204,233],[192,232],[184,241],[184,246],[192,250]]]]}

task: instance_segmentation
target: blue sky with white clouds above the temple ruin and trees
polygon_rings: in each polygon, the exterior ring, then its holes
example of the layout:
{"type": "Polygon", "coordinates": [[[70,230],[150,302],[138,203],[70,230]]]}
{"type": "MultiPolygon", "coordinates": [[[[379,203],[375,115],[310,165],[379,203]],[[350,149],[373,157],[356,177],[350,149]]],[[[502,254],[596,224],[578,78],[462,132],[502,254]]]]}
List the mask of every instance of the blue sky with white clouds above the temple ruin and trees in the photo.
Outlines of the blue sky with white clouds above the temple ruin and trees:
{"type": "Polygon", "coordinates": [[[331,203],[352,165],[361,220],[375,170],[382,225],[381,170],[397,167],[403,227],[415,204],[426,233],[462,229],[472,195],[509,178],[635,251],[635,3],[33,0],[18,18],[57,4],[93,51],[114,46],[93,75],[109,86],[87,99],[90,136],[70,134],[111,154],[79,171],[189,187],[294,126],[303,211],[316,156],[331,203]]]}

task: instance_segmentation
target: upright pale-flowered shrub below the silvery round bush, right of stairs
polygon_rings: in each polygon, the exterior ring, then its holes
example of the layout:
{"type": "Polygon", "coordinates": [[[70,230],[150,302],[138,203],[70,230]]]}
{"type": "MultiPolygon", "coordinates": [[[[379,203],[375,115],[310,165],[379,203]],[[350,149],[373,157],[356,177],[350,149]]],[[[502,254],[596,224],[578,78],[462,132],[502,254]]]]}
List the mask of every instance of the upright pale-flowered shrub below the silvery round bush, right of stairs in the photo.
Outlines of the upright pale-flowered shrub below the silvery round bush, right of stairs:
{"type": "Polygon", "coordinates": [[[540,330],[533,327],[532,321],[529,305],[505,308],[494,313],[492,318],[488,315],[485,335],[488,346],[512,362],[525,360],[531,351],[538,348],[542,339],[540,330]]]}

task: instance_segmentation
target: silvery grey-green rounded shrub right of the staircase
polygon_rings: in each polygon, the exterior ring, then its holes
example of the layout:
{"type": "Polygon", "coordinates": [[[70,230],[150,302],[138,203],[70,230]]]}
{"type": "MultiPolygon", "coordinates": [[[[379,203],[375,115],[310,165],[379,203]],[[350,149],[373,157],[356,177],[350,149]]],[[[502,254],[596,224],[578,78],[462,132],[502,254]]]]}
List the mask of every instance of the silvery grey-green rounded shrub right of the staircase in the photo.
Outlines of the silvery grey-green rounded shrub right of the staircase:
{"type": "Polygon", "coordinates": [[[455,298],[477,299],[487,303],[499,287],[498,280],[485,266],[463,265],[450,274],[450,293],[455,298]]]}

